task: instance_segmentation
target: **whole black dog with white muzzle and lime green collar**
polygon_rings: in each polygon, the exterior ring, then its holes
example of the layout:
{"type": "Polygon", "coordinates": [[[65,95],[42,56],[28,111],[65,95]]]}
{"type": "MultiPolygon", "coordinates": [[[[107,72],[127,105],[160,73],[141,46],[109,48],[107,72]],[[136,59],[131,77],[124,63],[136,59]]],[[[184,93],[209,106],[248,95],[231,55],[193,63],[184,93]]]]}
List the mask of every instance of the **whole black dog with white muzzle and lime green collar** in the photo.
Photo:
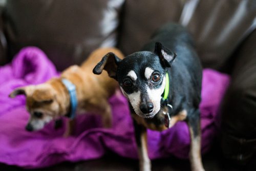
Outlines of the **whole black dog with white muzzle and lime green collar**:
{"type": "Polygon", "coordinates": [[[188,32],[182,26],[167,24],[140,52],[123,60],[113,53],[106,54],[93,72],[100,74],[103,69],[119,82],[129,99],[140,170],[151,169],[146,128],[162,131],[180,120],[189,126],[191,169],[204,170],[199,112],[202,68],[188,32]]]}

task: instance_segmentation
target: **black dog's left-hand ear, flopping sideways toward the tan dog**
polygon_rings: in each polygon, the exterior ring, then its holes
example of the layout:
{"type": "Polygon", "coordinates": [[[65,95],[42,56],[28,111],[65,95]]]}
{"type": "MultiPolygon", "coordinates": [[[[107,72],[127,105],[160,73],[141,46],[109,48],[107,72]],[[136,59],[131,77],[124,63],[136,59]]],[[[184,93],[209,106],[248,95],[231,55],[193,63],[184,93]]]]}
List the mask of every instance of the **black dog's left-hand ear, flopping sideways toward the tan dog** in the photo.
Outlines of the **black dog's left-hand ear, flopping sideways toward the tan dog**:
{"type": "Polygon", "coordinates": [[[105,70],[111,78],[116,79],[117,66],[121,60],[114,53],[107,53],[94,67],[93,73],[99,75],[105,70]]]}

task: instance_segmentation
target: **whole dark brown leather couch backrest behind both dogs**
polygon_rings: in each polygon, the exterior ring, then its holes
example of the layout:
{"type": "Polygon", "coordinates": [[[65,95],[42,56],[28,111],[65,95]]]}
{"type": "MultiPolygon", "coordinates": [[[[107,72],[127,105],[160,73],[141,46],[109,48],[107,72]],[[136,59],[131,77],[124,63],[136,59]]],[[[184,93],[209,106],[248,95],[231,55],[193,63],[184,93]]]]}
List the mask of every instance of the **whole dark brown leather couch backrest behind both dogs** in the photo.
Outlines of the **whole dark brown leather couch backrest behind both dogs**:
{"type": "Polygon", "coordinates": [[[166,22],[194,35],[204,67],[225,70],[256,26],[256,1],[9,0],[4,14],[9,57],[37,46],[58,70],[81,63],[98,47],[138,51],[166,22]]]}

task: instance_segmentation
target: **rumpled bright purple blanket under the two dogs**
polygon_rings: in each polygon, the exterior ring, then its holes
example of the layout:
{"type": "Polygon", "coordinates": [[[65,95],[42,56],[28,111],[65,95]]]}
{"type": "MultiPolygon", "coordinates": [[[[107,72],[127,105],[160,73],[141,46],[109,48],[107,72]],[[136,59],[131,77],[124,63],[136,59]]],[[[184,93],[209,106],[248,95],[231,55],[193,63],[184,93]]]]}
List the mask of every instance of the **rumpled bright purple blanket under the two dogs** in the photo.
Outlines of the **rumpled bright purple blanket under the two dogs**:
{"type": "MultiPolygon", "coordinates": [[[[75,134],[63,138],[65,127],[54,130],[53,122],[38,132],[27,132],[29,114],[25,97],[8,97],[17,87],[45,82],[58,76],[52,62],[35,47],[21,50],[12,63],[0,68],[0,162],[38,168],[62,161],[100,158],[107,150],[123,157],[137,158],[132,119],[124,97],[113,96],[113,127],[103,129],[101,118],[95,115],[77,116],[75,134]]],[[[229,83],[229,77],[216,71],[203,71],[201,129],[202,152],[205,153],[219,129],[219,104],[229,83]]],[[[62,118],[66,121],[66,118],[62,118]]],[[[187,158],[189,132],[185,122],[178,122],[164,132],[148,130],[151,159],[175,155],[187,158]]]]}

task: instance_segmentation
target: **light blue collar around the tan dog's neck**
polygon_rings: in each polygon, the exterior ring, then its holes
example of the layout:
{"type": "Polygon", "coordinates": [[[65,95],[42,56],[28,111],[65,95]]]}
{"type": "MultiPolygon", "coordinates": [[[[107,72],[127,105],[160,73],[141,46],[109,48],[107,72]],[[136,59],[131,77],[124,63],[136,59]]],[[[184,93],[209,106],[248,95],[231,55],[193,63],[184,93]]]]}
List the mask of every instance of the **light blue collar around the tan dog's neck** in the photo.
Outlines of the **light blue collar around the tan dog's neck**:
{"type": "Polygon", "coordinates": [[[66,88],[69,91],[69,96],[70,96],[70,105],[71,109],[70,112],[66,115],[67,117],[74,119],[76,115],[76,108],[77,108],[77,98],[76,98],[76,86],[70,82],[69,80],[62,78],[61,79],[62,83],[66,86],[66,88]]]}

